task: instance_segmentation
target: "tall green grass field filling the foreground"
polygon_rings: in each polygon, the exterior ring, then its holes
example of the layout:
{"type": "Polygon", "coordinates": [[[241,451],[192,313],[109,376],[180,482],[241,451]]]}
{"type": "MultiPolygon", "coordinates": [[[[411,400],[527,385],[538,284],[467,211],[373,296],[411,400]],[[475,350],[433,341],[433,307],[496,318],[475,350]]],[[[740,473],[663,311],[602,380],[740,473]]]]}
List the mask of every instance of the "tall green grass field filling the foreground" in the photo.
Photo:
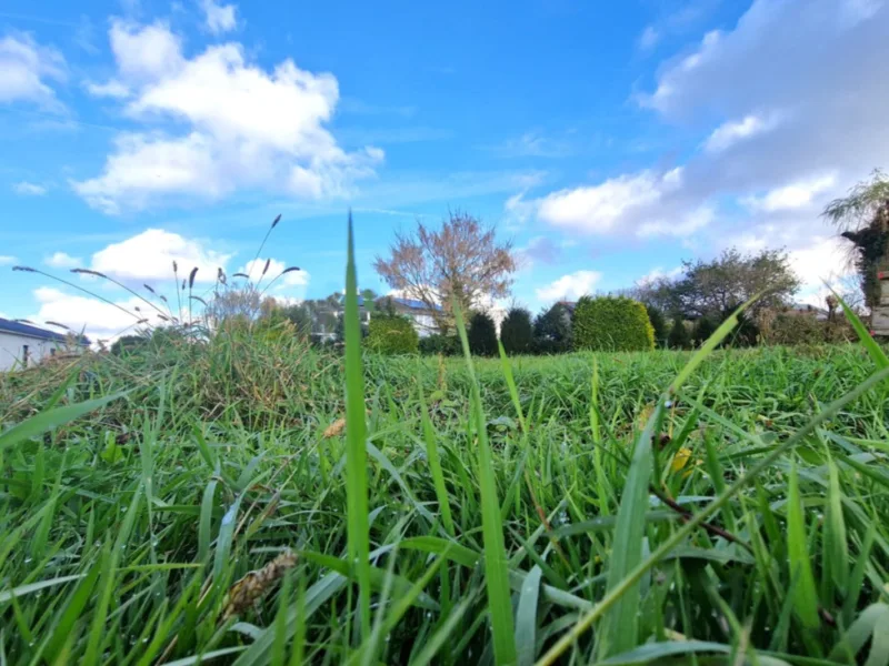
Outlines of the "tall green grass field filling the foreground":
{"type": "Polygon", "coordinates": [[[879,347],[356,352],[0,375],[0,663],[889,663],[879,347]]]}

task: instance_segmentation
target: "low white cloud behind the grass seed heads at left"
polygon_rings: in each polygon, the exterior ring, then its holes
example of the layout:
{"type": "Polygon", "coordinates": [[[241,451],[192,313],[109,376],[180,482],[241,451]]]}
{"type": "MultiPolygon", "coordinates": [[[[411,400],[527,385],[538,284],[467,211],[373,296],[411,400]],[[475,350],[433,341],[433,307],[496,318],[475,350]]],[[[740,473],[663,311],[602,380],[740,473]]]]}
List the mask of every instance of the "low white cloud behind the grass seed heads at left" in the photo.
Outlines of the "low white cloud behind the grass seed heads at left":
{"type": "Polygon", "coordinates": [[[180,278],[197,268],[196,281],[211,283],[217,279],[217,269],[224,270],[230,259],[231,254],[210,250],[201,241],[147,229],[93,254],[90,268],[121,281],[171,280],[176,261],[180,278]]]}

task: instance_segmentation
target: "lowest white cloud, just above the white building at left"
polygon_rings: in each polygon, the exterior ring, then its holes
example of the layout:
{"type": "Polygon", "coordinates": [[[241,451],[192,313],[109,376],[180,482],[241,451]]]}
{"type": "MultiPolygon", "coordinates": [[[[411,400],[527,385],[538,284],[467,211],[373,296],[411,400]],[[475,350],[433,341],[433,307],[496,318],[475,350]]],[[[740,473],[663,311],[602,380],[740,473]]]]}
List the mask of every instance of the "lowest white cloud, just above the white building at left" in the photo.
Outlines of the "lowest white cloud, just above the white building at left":
{"type": "Polygon", "coordinates": [[[82,331],[92,342],[113,340],[121,332],[131,329],[140,319],[133,307],[144,305],[136,297],[113,301],[123,309],[121,311],[98,299],[71,295],[49,286],[36,289],[33,294],[39,303],[36,320],[59,322],[76,333],[82,331]]]}

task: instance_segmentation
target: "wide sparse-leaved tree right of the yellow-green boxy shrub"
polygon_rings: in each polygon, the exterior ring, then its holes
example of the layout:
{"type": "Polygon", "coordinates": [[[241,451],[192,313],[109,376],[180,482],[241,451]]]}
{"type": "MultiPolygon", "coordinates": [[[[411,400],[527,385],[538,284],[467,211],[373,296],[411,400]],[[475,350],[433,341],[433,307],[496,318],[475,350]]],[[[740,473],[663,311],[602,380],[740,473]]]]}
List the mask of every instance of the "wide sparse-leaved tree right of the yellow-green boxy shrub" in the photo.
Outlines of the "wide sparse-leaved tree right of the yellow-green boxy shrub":
{"type": "Polygon", "coordinates": [[[800,285],[787,253],[781,250],[741,254],[732,248],[711,261],[686,261],[682,266],[681,278],[659,281],[656,292],[666,312],[688,320],[710,316],[721,322],[761,294],[748,309],[756,319],[765,307],[780,310],[790,304],[800,285]]]}

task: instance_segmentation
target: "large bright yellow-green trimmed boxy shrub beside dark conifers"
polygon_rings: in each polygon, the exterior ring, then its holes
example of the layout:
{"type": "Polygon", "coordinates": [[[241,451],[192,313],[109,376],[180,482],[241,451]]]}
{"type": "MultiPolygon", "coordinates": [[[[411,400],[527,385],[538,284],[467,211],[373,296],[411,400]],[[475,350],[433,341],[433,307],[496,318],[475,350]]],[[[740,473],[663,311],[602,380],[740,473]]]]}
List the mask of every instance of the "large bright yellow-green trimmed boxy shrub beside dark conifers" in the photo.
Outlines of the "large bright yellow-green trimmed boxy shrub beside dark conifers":
{"type": "Polygon", "coordinates": [[[633,352],[655,349],[646,306],[625,296],[583,296],[575,306],[575,347],[633,352]]]}

